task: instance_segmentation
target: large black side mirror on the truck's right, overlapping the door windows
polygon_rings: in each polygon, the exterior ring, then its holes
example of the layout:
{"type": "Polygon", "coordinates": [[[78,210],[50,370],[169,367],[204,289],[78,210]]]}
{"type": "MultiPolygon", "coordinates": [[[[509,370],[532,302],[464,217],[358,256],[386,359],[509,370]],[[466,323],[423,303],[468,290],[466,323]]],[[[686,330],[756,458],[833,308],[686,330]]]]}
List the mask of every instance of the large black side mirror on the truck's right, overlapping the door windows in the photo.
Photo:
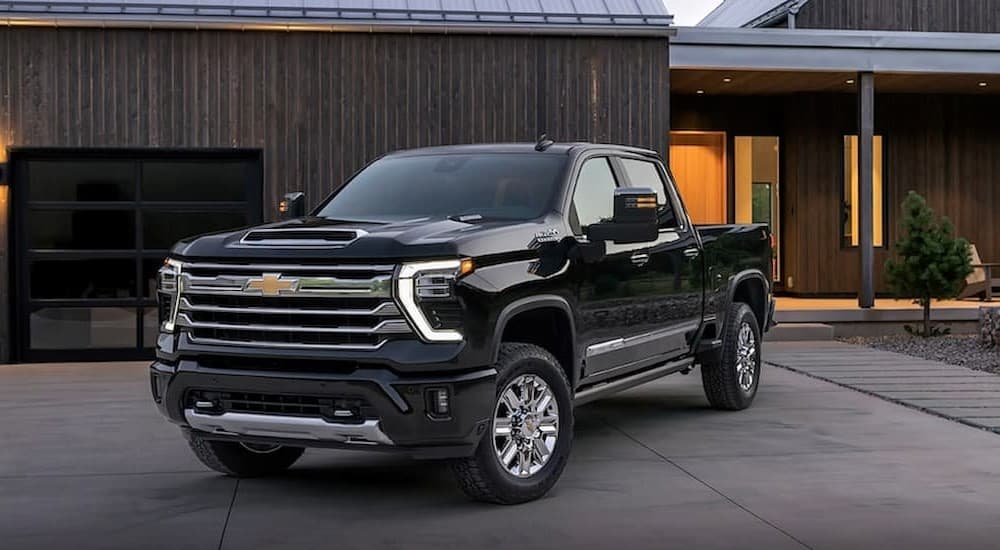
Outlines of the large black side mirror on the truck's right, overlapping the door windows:
{"type": "Polygon", "coordinates": [[[591,242],[611,241],[632,244],[655,241],[659,236],[656,191],[646,187],[623,187],[615,190],[614,216],[611,221],[591,224],[586,229],[591,242]]]}

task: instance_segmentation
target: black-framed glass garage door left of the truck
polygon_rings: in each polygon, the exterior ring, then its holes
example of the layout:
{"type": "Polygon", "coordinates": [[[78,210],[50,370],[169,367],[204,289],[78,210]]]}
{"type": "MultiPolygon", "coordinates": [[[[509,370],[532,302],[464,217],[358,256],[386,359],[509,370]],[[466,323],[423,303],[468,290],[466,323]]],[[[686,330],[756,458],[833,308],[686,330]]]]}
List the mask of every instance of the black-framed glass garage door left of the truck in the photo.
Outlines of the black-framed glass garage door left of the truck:
{"type": "Polygon", "coordinates": [[[17,149],[15,360],[150,356],[169,247],[259,223],[257,150],[17,149]]]}

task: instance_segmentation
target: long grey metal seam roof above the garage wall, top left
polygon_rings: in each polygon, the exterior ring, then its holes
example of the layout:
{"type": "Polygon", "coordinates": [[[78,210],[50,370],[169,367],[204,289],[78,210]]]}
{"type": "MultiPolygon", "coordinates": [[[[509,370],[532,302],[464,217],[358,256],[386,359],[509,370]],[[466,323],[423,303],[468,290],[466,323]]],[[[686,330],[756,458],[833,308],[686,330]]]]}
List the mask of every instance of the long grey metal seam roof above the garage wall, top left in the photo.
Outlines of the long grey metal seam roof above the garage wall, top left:
{"type": "Polygon", "coordinates": [[[12,0],[0,2],[4,22],[665,35],[673,16],[661,0],[12,0]]]}

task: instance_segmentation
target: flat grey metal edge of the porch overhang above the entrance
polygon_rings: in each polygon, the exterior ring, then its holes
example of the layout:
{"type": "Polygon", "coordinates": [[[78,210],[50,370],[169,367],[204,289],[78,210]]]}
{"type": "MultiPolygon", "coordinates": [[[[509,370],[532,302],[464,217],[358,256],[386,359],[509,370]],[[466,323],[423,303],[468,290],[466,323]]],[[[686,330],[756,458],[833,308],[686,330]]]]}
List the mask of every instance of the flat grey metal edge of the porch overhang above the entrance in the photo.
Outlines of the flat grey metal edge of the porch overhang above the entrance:
{"type": "Polygon", "coordinates": [[[1000,74],[1000,34],[679,27],[670,67],[1000,74]]]}

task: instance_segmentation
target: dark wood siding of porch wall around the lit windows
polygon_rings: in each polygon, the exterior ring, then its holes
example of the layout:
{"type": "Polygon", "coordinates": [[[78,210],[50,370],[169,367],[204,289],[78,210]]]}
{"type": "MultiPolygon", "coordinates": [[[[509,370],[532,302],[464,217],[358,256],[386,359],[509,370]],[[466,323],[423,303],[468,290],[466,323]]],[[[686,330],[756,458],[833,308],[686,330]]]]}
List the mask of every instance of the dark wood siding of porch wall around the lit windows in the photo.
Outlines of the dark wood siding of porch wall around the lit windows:
{"type": "MultiPolygon", "coordinates": [[[[725,130],[781,137],[784,275],[798,294],[852,294],[860,285],[858,249],[841,246],[843,136],[856,133],[851,94],[673,98],[673,129],[725,130]],[[739,114],[744,113],[744,114],[739,114]],[[776,122],[777,121],[777,122],[776,122]]],[[[911,189],[984,261],[1000,261],[1000,103],[996,96],[878,94],[875,132],[884,139],[886,243],[875,251],[876,290],[899,235],[900,205],[911,189]]],[[[730,137],[731,141],[731,137],[730,137]]]]}

